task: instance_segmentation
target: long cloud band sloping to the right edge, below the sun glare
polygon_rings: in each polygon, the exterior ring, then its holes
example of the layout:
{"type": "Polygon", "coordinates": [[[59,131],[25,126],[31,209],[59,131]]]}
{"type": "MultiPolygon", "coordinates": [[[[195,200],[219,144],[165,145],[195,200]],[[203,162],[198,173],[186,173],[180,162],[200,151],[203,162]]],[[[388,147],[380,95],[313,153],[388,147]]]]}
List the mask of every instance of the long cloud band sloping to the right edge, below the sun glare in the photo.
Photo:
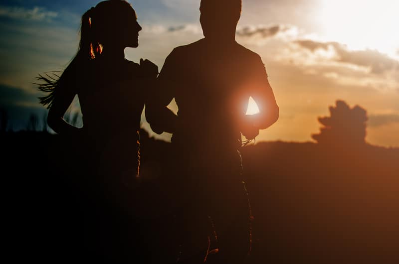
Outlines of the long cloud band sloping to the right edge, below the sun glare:
{"type": "Polygon", "coordinates": [[[399,61],[390,58],[377,50],[348,50],[345,45],[338,42],[318,42],[313,40],[296,40],[294,43],[315,52],[318,49],[328,51],[333,49],[336,53],[333,60],[349,63],[371,69],[372,73],[382,74],[387,71],[399,71],[399,61]]]}

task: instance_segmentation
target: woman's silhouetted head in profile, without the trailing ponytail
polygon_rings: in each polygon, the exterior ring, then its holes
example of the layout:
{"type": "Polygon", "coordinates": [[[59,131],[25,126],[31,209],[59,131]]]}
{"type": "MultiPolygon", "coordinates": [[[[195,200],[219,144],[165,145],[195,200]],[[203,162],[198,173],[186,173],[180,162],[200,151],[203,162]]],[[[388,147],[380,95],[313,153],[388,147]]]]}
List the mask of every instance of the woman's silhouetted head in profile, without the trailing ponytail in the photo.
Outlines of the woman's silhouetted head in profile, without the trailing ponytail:
{"type": "Polygon", "coordinates": [[[95,57],[102,46],[137,47],[141,26],[136,12],[125,0],[106,0],[89,9],[82,17],[80,49],[95,57]]]}

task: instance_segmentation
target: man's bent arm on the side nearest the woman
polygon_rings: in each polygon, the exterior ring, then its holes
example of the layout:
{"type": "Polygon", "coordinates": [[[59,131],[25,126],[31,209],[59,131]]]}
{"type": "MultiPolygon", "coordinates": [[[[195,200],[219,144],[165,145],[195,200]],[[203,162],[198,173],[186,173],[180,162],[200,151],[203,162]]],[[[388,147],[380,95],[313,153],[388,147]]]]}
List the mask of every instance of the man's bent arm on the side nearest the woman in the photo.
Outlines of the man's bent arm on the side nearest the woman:
{"type": "Polygon", "coordinates": [[[145,115],[147,122],[150,124],[151,129],[158,134],[162,132],[174,133],[178,124],[178,117],[167,108],[175,97],[178,65],[174,51],[166,58],[146,102],[145,115]]]}

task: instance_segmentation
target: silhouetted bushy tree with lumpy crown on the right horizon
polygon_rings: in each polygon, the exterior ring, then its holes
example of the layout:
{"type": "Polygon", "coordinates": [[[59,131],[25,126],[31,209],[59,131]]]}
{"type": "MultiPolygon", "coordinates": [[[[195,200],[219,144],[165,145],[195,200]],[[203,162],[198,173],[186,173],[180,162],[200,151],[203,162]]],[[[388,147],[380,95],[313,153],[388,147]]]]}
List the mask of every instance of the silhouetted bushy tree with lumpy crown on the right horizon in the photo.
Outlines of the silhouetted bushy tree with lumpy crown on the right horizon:
{"type": "Polygon", "coordinates": [[[351,108],[346,102],[337,100],[336,106],[330,106],[330,117],[319,117],[324,126],[320,133],[312,134],[320,144],[365,144],[367,111],[360,106],[351,108]]]}

